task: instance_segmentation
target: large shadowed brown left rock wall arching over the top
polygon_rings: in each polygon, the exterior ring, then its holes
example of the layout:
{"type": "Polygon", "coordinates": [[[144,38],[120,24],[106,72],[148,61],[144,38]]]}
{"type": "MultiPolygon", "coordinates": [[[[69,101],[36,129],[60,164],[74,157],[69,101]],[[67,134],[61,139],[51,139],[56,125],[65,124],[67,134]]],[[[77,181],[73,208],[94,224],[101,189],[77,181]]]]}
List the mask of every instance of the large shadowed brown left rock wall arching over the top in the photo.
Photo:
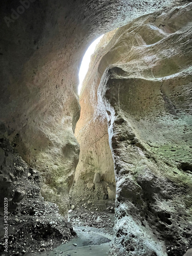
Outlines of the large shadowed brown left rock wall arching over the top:
{"type": "Polygon", "coordinates": [[[91,40],[173,4],[158,1],[2,1],[1,137],[44,179],[42,193],[65,213],[78,162],[77,74],[91,40]],[[63,201],[63,198],[66,198],[63,201]]]}

